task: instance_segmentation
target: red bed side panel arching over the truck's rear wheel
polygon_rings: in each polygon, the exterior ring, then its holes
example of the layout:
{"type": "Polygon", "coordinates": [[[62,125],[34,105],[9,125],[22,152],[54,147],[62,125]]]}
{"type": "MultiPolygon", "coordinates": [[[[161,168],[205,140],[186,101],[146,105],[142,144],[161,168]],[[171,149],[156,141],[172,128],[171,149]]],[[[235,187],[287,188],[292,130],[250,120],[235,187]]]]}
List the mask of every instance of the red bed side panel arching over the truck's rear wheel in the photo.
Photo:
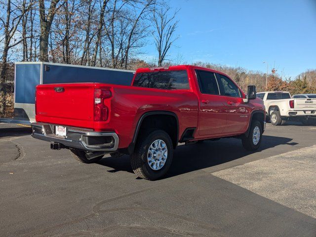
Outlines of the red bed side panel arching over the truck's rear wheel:
{"type": "Polygon", "coordinates": [[[115,86],[111,104],[111,121],[95,127],[113,129],[120,138],[119,148],[133,139],[139,119],[146,112],[173,112],[179,120],[179,139],[187,127],[197,127],[197,96],[191,91],[160,90],[133,86],[115,86]]]}

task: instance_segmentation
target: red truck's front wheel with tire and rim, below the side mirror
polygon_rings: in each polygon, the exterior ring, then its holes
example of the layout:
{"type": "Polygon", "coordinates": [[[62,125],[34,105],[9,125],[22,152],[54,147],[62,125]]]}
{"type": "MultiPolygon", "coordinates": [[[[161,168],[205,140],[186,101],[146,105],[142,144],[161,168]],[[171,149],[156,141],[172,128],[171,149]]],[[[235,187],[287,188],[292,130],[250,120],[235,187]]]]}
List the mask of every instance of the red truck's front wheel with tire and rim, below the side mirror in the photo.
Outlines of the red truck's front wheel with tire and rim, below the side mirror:
{"type": "Polygon", "coordinates": [[[262,139],[262,126],[258,120],[251,123],[248,137],[242,138],[242,146],[248,151],[257,150],[262,139]]]}

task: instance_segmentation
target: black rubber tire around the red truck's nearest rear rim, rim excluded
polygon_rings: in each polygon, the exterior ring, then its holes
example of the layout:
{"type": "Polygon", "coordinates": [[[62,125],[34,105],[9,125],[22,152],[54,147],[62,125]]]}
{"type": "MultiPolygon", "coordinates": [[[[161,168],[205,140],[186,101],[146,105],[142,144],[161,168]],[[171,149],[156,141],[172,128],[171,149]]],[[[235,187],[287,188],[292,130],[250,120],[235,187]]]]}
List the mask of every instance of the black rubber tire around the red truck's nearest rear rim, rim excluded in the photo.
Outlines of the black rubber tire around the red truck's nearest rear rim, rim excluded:
{"type": "Polygon", "coordinates": [[[157,180],[166,174],[173,157],[173,145],[170,136],[163,130],[144,132],[137,140],[134,153],[130,156],[130,162],[134,173],[143,179],[157,180]],[[148,150],[156,140],[162,140],[167,147],[167,159],[164,165],[158,169],[152,169],[147,161],[148,150]]]}

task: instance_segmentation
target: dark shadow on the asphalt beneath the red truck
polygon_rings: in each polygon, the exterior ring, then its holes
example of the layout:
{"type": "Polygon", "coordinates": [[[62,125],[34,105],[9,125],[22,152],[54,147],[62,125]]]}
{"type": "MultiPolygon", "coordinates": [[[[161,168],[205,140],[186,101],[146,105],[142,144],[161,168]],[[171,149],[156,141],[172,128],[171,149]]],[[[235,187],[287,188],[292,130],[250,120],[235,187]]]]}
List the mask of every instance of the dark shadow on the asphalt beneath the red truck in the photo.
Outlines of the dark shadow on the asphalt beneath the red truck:
{"type": "MultiPolygon", "coordinates": [[[[261,151],[285,144],[289,146],[297,145],[297,143],[291,143],[291,141],[292,139],[286,137],[264,135],[261,147],[256,152],[244,150],[241,145],[241,140],[233,138],[224,138],[218,141],[205,141],[202,144],[193,144],[189,146],[179,144],[174,151],[171,167],[167,175],[162,179],[209,168],[254,153],[257,153],[258,155],[251,158],[251,161],[266,158],[265,156],[262,156],[261,151]]],[[[108,170],[108,172],[133,172],[130,166],[129,156],[127,155],[120,158],[103,158],[98,163],[113,168],[112,170],[108,170]]]]}

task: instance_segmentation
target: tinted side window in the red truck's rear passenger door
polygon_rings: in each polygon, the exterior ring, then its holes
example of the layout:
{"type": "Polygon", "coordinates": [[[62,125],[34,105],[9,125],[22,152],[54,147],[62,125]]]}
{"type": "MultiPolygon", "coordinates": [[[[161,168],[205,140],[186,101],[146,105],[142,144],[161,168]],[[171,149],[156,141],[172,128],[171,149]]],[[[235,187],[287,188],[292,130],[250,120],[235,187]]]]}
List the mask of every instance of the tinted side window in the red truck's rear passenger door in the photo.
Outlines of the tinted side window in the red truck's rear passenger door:
{"type": "Polygon", "coordinates": [[[219,95],[219,88],[214,73],[196,70],[196,74],[201,93],[219,95]]]}

